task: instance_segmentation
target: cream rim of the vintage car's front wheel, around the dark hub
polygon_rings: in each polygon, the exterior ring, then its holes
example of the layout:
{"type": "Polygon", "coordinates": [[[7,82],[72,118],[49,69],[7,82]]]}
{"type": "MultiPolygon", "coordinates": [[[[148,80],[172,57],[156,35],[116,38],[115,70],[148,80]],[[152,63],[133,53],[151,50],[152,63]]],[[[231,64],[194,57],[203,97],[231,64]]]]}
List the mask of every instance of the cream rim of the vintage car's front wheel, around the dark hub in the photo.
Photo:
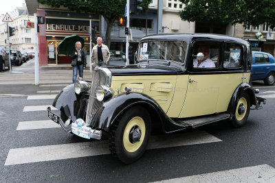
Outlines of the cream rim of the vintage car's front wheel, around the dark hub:
{"type": "Polygon", "coordinates": [[[145,131],[146,131],[145,123],[141,117],[133,117],[128,122],[123,134],[123,145],[126,151],[134,152],[140,148],[140,146],[144,141],[145,131]],[[131,139],[130,139],[131,138],[130,136],[132,135],[131,131],[133,130],[133,128],[137,128],[137,127],[140,129],[140,132],[141,132],[140,141],[133,143],[131,142],[131,139]]]}

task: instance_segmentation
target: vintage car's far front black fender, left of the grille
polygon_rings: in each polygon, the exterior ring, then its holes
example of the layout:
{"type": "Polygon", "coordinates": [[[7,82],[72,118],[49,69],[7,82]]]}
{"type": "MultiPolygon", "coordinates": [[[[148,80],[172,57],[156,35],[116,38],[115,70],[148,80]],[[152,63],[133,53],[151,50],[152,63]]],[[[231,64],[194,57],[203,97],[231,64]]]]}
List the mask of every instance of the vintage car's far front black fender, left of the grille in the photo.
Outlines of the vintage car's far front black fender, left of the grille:
{"type": "Polygon", "coordinates": [[[69,84],[58,93],[52,106],[65,114],[66,119],[62,119],[64,115],[61,114],[61,119],[63,121],[66,121],[68,117],[72,117],[72,121],[76,121],[78,118],[85,120],[88,98],[89,93],[85,95],[76,95],[74,92],[74,84],[69,84]]]}

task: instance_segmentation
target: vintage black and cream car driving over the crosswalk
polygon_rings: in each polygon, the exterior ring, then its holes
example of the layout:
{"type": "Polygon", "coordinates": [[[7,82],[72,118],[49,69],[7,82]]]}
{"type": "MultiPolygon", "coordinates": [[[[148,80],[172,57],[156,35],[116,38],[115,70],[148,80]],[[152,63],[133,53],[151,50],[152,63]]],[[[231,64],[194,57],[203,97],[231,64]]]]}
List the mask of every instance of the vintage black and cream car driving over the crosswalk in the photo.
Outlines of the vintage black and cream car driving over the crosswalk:
{"type": "Polygon", "coordinates": [[[239,127],[250,109],[265,103],[252,88],[250,44],[240,38],[146,36],[137,55],[137,64],[97,67],[91,82],[65,87],[53,103],[60,114],[49,107],[48,117],[83,138],[109,137],[111,154],[131,163],[153,130],[170,133],[221,120],[239,127]]]}

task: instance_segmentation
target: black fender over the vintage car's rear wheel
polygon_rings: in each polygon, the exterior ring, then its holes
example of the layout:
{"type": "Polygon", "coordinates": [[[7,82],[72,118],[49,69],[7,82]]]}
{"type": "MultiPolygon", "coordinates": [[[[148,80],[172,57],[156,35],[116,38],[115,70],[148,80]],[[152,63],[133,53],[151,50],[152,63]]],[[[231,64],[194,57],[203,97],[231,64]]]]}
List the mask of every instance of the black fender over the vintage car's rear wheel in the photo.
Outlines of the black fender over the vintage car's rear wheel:
{"type": "Polygon", "coordinates": [[[230,114],[230,119],[232,119],[233,112],[236,108],[236,100],[243,92],[248,93],[248,95],[250,96],[251,105],[255,105],[257,107],[258,103],[256,102],[256,95],[254,92],[254,88],[252,88],[252,86],[248,83],[241,83],[234,90],[234,93],[233,93],[233,95],[230,99],[230,103],[228,105],[228,112],[230,114]]]}

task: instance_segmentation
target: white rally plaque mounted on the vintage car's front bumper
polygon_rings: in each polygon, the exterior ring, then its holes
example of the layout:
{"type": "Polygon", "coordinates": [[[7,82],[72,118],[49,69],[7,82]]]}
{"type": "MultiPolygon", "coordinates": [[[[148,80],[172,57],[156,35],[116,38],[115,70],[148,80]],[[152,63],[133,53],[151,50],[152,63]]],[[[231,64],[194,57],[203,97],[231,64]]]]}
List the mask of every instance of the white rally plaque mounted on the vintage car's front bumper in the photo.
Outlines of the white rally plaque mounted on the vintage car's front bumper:
{"type": "Polygon", "coordinates": [[[76,119],[76,121],[72,123],[72,132],[77,136],[90,139],[90,130],[91,127],[87,127],[83,119],[76,119]]]}

